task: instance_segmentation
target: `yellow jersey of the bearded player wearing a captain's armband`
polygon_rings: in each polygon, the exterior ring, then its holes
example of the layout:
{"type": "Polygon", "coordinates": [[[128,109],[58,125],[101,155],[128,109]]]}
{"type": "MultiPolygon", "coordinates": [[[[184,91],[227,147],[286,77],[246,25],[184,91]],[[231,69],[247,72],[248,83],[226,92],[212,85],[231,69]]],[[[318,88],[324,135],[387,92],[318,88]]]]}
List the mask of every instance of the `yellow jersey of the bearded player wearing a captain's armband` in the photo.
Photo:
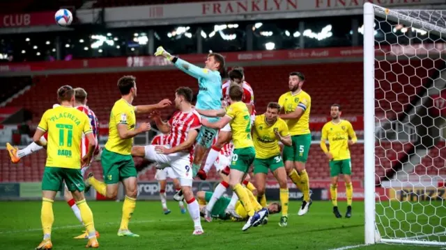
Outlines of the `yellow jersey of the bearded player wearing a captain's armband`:
{"type": "Polygon", "coordinates": [[[286,119],[286,124],[291,135],[306,135],[309,131],[309,113],[312,108],[312,98],[307,92],[300,90],[297,94],[286,92],[279,98],[279,105],[286,114],[294,112],[296,108],[302,108],[304,113],[300,119],[286,119]]]}

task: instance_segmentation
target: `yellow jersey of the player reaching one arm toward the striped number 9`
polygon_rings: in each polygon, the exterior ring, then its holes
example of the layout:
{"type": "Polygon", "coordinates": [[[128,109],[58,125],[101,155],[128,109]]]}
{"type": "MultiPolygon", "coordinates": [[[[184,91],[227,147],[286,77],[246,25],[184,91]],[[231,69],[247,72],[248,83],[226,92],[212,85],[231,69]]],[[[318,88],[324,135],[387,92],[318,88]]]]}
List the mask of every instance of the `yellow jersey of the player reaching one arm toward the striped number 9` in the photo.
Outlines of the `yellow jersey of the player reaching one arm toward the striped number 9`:
{"type": "Polygon", "coordinates": [[[132,131],[136,126],[136,122],[134,106],[124,99],[116,101],[112,108],[112,113],[110,113],[109,139],[105,144],[105,149],[122,155],[130,155],[132,152],[133,138],[119,138],[118,124],[125,124],[127,125],[127,129],[132,131]]]}

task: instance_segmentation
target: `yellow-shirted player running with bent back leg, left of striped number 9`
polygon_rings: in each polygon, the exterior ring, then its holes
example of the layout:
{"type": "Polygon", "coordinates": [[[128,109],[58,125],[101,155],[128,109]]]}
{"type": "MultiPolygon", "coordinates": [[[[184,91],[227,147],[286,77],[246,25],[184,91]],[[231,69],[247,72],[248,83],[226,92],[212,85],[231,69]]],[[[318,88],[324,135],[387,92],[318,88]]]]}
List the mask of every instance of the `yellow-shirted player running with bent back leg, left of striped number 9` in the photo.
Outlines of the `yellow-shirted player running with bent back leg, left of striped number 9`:
{"type": "Polygon", "coordinates": [[[134,136],[151,129],[150,124],[145,122],[137,128],[135,114],[150,113],[157,108],[171,105],[171,101],[164,99],[154,105],[132,106],[134,98],[137,97],[135,80],[134,76],[123,76],[118,80],[121,99],[114,103],[112,113],[110,113],[109,139],[101,155],[105,180],[104,182],[98,181],[94,178],[93,173],[90,173],[85,182],[87,187],[93,186],[105,197],[116,199],[119,182],[122,181],[125,188],[125,200],[118,236],[130,237],[139,237],[128,229],[128,222],[136,206],[138,192],[137,170],[130,153],[134,136]]]}

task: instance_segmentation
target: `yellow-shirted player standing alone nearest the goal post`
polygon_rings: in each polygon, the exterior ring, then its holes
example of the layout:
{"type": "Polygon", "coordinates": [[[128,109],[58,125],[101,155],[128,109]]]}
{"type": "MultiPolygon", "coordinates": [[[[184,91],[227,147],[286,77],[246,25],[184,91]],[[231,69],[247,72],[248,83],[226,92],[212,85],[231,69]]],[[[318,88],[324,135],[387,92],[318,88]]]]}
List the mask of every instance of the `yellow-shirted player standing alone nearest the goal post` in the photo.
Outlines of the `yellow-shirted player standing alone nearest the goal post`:
{"type": "Polygon", "coordinates": [[[357,138],[351,123],[341,119],[341,113],[341,106],[333,104],[330,110],[332,120],[327,122],[322,128],[321,149],[330,163],[330,176],[332,178],[330,194],[334,216],[337,218],[342,217],[337,208],[337,180],[339,174],[344,174],[347,197],[346,218],[350,218],[353,186],[351,184],[351,158],[348,147],[355,144],[357,138]],[[327,149],[327,140],[330,144],[330,151],[327,149]]]}

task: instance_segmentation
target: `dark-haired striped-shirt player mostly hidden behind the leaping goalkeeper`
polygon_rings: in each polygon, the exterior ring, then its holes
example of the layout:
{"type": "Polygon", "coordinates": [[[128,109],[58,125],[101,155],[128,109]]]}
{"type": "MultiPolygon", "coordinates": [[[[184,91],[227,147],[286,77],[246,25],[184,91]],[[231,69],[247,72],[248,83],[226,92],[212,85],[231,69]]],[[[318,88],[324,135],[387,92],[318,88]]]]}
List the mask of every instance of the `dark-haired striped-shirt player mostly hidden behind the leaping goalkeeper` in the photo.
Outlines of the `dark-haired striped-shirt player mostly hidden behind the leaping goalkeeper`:
{"type": "MultiPolygon", "coordinates": [[[[229,80],[223,83],[223,100],[225,103],[229,103],[229,87],[231,84],[238,84],[243,88],[243,98],[242,101],[246,103],[246,106],[251,114],[251,117],[255,118],[254,110],[254,92],[252,91],[251,85],[245,81],[245,75],[243,73],[242,67],[235,67],[229,72],[229,80]]],[[[218,133],[217,142],[215,142],[209,151],[208,158],[206,158],[206,163],[203,169],[200,169],[197,176],[202,180],[206,180],[207,174],[210,167],[213,166],[215,160],[217,160],[220,153],[220,149],[224,147],[225,144],[229,143],[232,138],[231,126],[227,124],[224,128],[220,129],[218,133]]]]}

